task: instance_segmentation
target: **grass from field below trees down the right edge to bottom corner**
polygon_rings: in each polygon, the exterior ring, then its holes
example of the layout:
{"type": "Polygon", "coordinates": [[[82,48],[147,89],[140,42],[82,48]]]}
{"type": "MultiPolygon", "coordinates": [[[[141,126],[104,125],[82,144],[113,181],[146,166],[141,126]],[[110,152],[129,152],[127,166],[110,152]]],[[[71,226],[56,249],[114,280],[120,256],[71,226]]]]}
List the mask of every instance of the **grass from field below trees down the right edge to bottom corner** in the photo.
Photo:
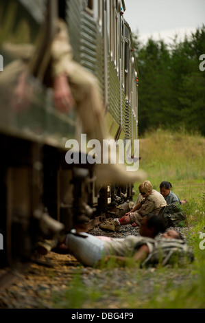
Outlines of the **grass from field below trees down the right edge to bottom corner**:
{"type": "MultiPolygon", "coordinates": [[[[147,179],[156,190],[159,190],[161,181],[170,181],[173,192],[180,199],[189,201],[184,205],[186,237],[195,254],[194,263],[189,265],[193,280],[177,288],[168,282],[167,292],[156,287],[143,307],[204,308],[205,249],[200,249],[200,232],[205,232],[205,138],[184,131],[176,133],[158,129],[147,133],[141,140],[140,155],[140,167],[146,170],[147,179]]],[[[137,186],[135,189],[138,192],[137,186]]]]}

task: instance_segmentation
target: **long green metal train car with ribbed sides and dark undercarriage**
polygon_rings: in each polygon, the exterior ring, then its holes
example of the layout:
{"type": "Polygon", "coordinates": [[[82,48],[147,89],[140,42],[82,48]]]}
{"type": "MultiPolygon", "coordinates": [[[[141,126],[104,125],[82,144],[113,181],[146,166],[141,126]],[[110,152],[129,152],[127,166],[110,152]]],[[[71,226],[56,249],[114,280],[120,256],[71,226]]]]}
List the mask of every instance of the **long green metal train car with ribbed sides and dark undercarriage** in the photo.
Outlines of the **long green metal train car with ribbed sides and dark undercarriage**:
{"type": "MultiPolygon", "coordinates": [[[[48,3],[52,28],[57,2],[48,3]]],[[[123,16],[125,1],[67,0],[61,10],[74,59],[99,81],[110,135],[133,142],[138,138],[138,69],[123,16]]],[[[65,162],[67,140],[79,139],[83,130],[75,110],[64,115],[55,109],[51,88],[31,76],[35,99],[29,109],[12,109],[8,103],[18,83],[16,62],[30,59],[46,11],[47,1],[0,3],[1,265],[32,253],[40,234],[36,219],[43,214],[69,231],[73,221],[104,219],[122,201],[121,192],[132,198],[132,183],[99,187],[87,180],[93,179],[93,166],[65,162]]]]}

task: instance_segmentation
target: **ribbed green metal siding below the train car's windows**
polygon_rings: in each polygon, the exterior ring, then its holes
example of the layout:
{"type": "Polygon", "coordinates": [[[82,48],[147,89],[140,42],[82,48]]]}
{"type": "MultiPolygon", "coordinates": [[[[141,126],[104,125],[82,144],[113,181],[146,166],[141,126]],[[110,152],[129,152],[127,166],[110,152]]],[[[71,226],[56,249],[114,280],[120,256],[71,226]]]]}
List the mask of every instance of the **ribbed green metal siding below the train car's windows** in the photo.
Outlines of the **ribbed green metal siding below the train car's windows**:
{"type": "MultiPolygon", "coordinates": [[[[95,74],[104,97],[104,38],[93,16],[84,11],[82,0],[67,1],[67,3],[69,3],[67,21],[74,58],[91,73],[95,74]]],[[[130,41],[127,27],[125,27],[125,36],[130,41]]],[[[110,56],[108,57],[108,111],[112,118],[119,125],[121,124],[122,130],[125,132],[125,139],[130,139],[131,137],[136,139],[136,120],[133,115],[134,123],[132,123],[132,109],[129,103],[125,101],[123,89],[121,90],[120,102],[119,77],[110,56]],[[134,131],[133,135],[132,129],[134,131]]]]}

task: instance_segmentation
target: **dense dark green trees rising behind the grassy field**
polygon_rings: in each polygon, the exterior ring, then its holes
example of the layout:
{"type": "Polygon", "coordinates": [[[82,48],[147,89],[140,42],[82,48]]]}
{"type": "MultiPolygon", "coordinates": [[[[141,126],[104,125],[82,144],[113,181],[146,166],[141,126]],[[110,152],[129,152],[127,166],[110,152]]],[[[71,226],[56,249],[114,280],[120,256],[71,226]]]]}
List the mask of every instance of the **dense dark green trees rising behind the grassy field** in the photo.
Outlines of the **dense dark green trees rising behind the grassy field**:
{"type": "Polygon", "coordinates": [[[205,25],[170,44],[133,35],[138,64],[138,132],[158,127],[205,135],[205,25]]]}

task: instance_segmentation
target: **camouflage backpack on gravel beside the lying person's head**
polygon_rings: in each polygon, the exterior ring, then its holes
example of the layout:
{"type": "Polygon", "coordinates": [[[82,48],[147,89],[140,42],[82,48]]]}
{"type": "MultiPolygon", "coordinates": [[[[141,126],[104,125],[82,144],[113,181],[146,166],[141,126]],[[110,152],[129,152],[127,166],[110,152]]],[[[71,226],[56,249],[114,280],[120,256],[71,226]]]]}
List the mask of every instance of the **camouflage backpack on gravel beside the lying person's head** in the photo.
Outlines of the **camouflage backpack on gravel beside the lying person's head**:
{"type": "Polygon", "coordinates": [[[143,261],[142,267],[160,264],[185,265],[194,259],[193,250],[183,240],[160,238],[156,241],[153,252],[143,261]]]}

